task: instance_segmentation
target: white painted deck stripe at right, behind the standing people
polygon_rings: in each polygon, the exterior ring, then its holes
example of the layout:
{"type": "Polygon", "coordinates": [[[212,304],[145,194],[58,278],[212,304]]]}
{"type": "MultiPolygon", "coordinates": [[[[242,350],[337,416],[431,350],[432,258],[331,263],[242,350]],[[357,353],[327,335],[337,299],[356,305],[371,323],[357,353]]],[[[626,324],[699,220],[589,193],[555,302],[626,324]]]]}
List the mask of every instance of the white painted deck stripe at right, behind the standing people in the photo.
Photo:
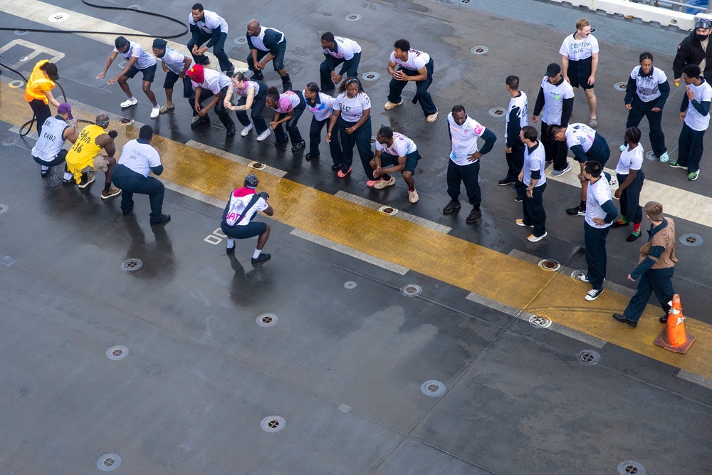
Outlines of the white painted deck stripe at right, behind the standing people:
{"type": "MultiPolygon", "coordinates": [[[[575,162],[572,158],[569,158],[569,161],[571,164],[570,172],[562,174],[560,177],[552,177],[551,172],[553,168],[550,168],[546,173],[546,178],[555,182],[570,184],[572,187],[580,189],[581,182],[577,178],[579,170],[578,162],[575,162]]],[[[604,170],[615,177],[615,169],[605,168],[604,170]]],[[[684,170],[681,169],[670,168],[670,170],[680,173],[684,172],[684,170]]],[[[643,171],[645,171],[645,169],[643,169],[643,171]]],[[[615,192],[616,189],[617,187],[613,187],[612,191],[615,192]]],[[[575,198],[573,201],[575,202],[577,199],[578,198],[575,198]]],[[[687,221],[703,226],[709,226],[712,222],[712,198],[710,197],[645,179],[643,189],[640,192],[640,204],[642,206],[650,201],[662,203],[665,207],[665,214],[669,214],[670,216],[686,219],[687,221]]]]}

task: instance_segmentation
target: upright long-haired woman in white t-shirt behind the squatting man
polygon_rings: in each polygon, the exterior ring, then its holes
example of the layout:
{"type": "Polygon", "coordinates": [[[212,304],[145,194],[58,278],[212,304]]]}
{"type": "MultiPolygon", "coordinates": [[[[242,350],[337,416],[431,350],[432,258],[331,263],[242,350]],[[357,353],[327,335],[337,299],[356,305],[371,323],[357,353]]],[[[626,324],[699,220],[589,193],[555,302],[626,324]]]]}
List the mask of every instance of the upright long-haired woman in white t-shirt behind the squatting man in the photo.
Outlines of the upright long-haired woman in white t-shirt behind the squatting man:
{"type": "Polygon", "coordinates": [[[370,165],[374,157],[371,150],[371,100],[363,92],[358,78],[342,81],[338,93],[326,132],[327,142],[331,142],[335,134],[338,134],[341,142],[342,162],[337,177],[344,178],[351,173],[356,147],[366,174],[366,185],[372,187],[378,180],[373,176],[370,165]]]}

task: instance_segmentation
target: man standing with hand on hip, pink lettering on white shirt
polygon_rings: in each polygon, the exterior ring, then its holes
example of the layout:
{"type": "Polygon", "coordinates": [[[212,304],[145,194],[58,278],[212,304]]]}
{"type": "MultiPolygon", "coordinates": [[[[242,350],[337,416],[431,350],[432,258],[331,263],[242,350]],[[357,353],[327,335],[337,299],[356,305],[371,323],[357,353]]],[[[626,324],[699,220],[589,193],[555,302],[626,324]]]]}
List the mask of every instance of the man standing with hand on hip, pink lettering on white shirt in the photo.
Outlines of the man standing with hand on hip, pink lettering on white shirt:
{"type": "Polygon", "coordinates": [[[482,217],[480,204],[482,194],[478,182],[480,174],[480,159],[494,147],[497,136],[467,116],[463,105],[454,105],[447,116],[448,132],[450,134],[450,160],[447,164],[447,194],[450,202],[443,208],[443,214],[459,211],[461,205],[460,185],[464,182],[467,199],[472,205],[472,211],[465,222],[473,224],[482,217]],[[477,139],[485,141],[481,150],[477,149],[477,139]]]}

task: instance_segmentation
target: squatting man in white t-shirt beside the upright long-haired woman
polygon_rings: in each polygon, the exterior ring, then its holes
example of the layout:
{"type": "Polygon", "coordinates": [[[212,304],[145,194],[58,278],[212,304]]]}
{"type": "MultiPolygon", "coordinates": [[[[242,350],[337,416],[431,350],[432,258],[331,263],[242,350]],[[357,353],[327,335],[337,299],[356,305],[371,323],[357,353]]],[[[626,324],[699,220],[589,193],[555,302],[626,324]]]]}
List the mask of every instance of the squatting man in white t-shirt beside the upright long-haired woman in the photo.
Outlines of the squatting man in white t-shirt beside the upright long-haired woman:
{"type": "Polygon", "coordinates": [[[403,134],[393,132],[391,127],[383,126],[376,133],[376,156],[371,160],[373,176],[379,181],[373,185],[376,189],[390,187],[396,179],[389,173],[401,172],[408,185],[408,201],[418,202],[418,192],[415,189],[413,174],[420,160],[415,142],[403,134]]]}

